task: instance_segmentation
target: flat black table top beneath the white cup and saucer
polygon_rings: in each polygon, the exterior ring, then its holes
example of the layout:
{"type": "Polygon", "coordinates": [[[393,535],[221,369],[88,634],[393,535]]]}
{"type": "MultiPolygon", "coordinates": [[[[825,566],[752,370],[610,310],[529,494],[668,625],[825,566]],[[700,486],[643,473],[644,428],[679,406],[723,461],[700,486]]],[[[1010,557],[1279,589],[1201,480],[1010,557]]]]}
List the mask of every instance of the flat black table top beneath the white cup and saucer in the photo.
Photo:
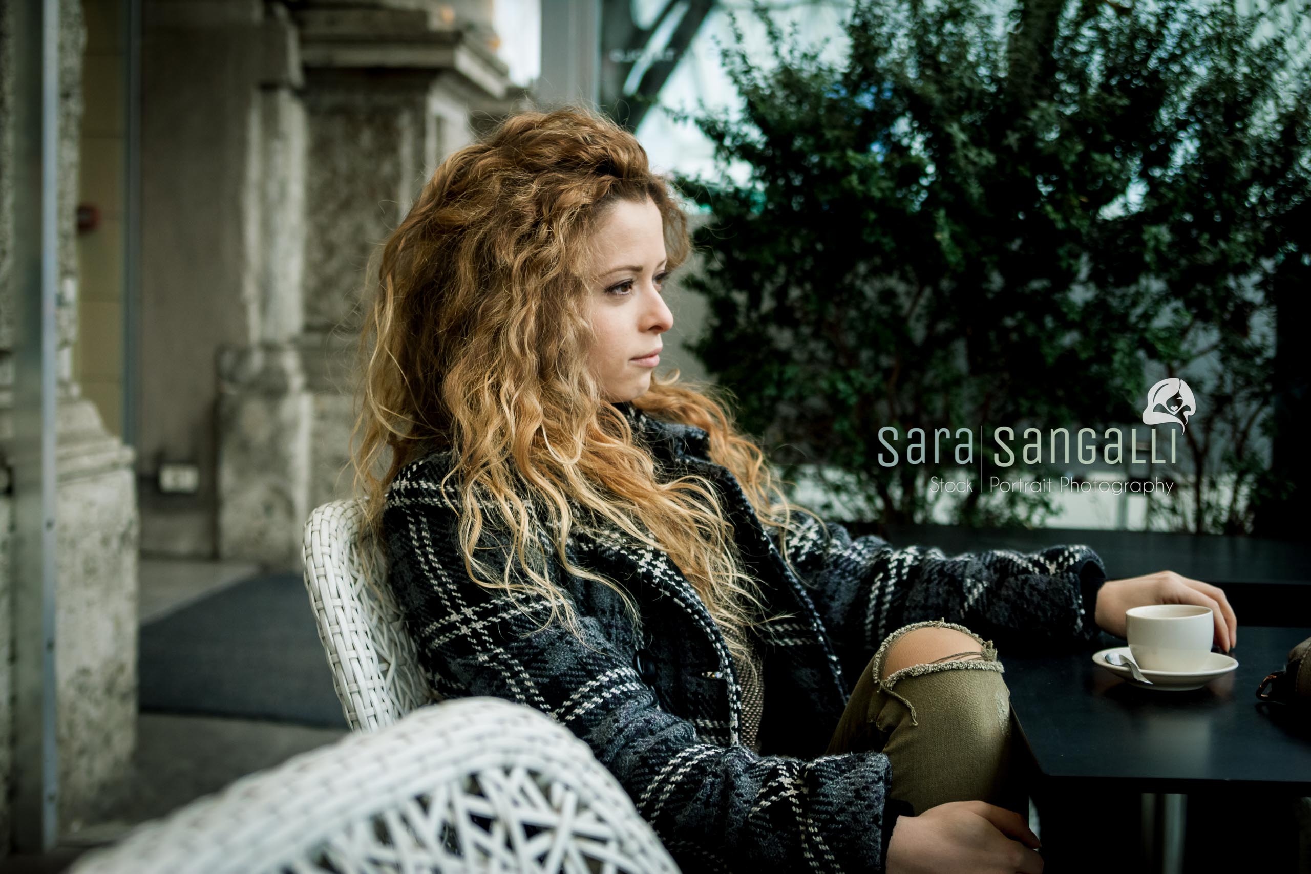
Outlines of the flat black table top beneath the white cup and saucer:
{"type": "Polygon", "coordinates": [[[1041,780],[1308,795],[1311,719],[1256,698],[1261,679],[1307,637],[1311,628],[1240,624],[1238,668],[1192,692],[1138,688],[1093,664],[1097,650],[1125,645],[1105,633],[1072,654],[1000,658],[1041,780]]]}

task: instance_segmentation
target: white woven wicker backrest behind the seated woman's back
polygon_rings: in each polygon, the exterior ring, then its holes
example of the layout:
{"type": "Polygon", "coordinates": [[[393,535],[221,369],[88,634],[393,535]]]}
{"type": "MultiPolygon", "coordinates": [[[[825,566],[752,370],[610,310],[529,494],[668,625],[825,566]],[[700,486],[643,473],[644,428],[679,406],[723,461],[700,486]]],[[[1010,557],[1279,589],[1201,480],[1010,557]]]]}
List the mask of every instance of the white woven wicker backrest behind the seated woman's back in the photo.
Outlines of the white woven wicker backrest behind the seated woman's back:
{"type": "Polygon", "coordinates": [[[361,548],[363,510],[359,499],[325,503],[309,515],[304,542],[305,588],[351,731],[389,726],[440,700],[387,588],[383,557],[361,548]]]}

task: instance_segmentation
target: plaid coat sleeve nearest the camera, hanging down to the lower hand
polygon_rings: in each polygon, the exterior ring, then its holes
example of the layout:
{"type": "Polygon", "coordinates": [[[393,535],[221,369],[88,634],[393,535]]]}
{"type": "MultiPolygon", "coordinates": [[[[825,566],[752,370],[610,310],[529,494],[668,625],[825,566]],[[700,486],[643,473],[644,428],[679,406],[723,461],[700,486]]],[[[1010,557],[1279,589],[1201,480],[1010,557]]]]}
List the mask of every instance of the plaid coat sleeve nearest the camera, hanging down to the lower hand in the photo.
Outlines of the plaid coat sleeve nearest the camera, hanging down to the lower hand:
{"type": "MultiPolygon", "coordinates": [[[[583,641],[557,622],[538,630],[545,599],[473,583],[455,522],[434,484],[401,478],[383,514],[388,582],[439,688],[524,704],[565,725],[683,870],[884,870],[895,815],[909,812],[885,805],[888,756],[802,760],[701,742],[658,705],[633,653],[595,616],[578,615],[583,641]]],[[[582,600],[558,563],[551,573],[570,601],[582,600]]]]}

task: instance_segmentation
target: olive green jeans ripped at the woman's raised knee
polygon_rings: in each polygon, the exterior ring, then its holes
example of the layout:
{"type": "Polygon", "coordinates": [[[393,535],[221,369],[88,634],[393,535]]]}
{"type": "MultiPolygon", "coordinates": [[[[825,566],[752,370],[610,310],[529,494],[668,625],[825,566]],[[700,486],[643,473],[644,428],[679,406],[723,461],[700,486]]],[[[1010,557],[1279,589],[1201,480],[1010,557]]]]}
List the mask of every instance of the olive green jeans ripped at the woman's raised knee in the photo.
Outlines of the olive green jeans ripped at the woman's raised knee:
{"type": "Polygon", "coordinates": [[[931,620],[899,628],[865,666],[826,755],[886,753],[889,794],[915,815],[950,801],[985,801],[1028,816],[1027,757],[1013,750],[1017,731],[1002,674],[992,642],[964,625],[931,620]],[[956,629],[979,646],[880,679],[897,638],[927,625],[956,629]]]}

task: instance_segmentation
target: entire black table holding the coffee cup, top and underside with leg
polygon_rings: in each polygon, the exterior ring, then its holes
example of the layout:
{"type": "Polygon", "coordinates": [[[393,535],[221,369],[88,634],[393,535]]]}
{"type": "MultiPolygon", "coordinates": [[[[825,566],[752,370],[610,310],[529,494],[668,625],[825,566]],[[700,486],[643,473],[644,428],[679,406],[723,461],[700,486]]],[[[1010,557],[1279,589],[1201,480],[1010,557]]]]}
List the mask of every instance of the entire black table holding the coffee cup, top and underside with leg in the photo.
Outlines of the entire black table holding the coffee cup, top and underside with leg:
{"type": "Polygon", "coordinates": [[[1240,624],[1238,668],[1189,692],[1134,687],[1093,664],[1099,649],[1125,645],[1105,633],[1074,653],[1000,653],[1049,871],[1297,870],[1311,721],[1259,701],[1256,688],[1307,637],[1311,628],[1240,624]],[[1139,843],[1154,810],[1155,837],[1139,843]]]}

